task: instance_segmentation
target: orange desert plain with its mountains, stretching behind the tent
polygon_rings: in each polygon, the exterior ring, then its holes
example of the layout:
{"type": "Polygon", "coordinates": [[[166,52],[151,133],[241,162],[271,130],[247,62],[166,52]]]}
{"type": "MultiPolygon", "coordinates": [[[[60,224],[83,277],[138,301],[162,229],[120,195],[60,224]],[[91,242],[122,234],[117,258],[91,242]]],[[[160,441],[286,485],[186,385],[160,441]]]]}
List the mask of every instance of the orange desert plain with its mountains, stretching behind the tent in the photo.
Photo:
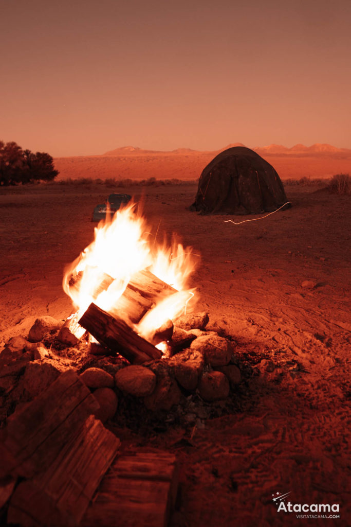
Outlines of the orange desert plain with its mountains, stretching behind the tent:
{"type": "MultiPolygon", "coordinates": [[[[182,179],[196,180],[219,152],[243,143],[228,144],[219,150],[201,152],[188,148],[173,151],[144,150],[126,146],[104,154],[56,158],[58,179],[182,179]]],[[[336,173],[351,173],[351,150],[329,144],[310,147],[296,144],[292,148],[280,144],[256,147],[255,150],[273,165],[280,178],[328,178],[336,173]]]]}

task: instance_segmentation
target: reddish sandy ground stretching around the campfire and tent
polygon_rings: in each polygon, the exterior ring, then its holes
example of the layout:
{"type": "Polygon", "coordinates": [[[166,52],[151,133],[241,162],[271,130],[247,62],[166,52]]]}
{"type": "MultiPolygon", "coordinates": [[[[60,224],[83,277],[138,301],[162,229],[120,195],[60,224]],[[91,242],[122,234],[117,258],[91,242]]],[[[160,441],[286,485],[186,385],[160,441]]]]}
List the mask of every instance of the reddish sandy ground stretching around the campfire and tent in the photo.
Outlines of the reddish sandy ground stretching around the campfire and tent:
{"type": "MultiPolygon", "coordinates": [[[[125,189],[138,192],[142,189],[125,189]]],[[[31,322],[64,319],[70,300],[63,269],[92,240],[102,186],[1,189],[0,344],[26,336],[31,322]]],[[[293,503],[338,503],[340,519],[308,525],[350,525],[351,320],[349,196],[287,187],[293,207],[235,226],[229,217],[187,210],[196,186],[144,189],[154,232],[178,233],[201,255],[193,276],[209,326],[232,336],[251,367],[236,412],[207,419],[193,431],[169,427],[142,435],[118,430],[131,445],[167,448],[180,462],[180,497],[172,527],[303,525],[277,512],[272,494],[293,503]],[[314,289],[301,283],[315,279],[314,289]],[[271,359],[265,372],[260,361],[271,359]]],[[[240,221],[243,217],[233,217],[240,221]]],[[[249,217],[252,219],[252,217],[249,217]]]]}

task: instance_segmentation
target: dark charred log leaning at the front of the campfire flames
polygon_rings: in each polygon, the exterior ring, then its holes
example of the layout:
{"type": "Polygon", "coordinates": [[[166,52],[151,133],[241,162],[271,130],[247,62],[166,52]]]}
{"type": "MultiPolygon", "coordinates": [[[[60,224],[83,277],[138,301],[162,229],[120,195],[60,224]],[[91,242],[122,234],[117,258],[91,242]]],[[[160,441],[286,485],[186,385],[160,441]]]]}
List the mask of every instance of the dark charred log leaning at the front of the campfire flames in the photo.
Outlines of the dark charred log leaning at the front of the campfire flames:
{"type": "Polygon", "coordinates": [[[95,304],[85,311],[79,324],[99,343],[123,355],[132,364],[159,359],[162,353],[129,327],[121,317],[112,317],[95,304]]]}

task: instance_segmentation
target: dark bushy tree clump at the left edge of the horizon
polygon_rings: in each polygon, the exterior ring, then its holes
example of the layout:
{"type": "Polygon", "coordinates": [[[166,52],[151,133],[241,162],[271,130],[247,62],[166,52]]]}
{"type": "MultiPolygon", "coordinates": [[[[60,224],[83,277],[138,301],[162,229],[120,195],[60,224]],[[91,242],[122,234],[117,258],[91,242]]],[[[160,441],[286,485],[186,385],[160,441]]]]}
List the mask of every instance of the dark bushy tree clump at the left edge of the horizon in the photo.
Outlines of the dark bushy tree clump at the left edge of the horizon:
{"type": "Polygon", "coordinates": [[[52,181],[58,171],[54,160],[46,152],[22,150],[14,141],[0,141],[0,185],[52,181]]]}

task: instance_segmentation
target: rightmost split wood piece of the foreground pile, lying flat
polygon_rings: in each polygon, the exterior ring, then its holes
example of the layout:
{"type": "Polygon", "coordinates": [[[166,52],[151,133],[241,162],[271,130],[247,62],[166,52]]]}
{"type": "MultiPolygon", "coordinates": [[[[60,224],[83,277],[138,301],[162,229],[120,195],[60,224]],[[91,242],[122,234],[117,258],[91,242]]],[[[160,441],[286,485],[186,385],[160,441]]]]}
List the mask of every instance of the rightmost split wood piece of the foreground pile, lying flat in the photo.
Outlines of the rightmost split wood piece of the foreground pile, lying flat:
{"type": "Polygon", "coordinates": [[[174,455],[156,452],[118,457],[81,525],[166,527],[177,487],[174,455]]]}

